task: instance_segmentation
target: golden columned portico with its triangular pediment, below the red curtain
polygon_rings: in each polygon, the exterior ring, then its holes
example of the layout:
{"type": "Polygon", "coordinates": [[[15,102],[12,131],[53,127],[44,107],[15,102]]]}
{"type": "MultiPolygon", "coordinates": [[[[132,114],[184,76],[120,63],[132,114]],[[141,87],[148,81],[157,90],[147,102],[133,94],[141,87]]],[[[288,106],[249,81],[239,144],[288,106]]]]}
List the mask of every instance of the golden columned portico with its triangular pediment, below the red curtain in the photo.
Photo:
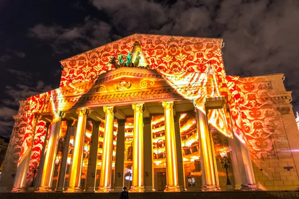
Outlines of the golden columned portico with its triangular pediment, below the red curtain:
{"type": "MultiPolygon", "coordinates": [[[[82,89],[84,87],[89,87],[89,83],[86,83],[85,86],[81,85],[82,89]]],[[[81,88],[79,87],[79,89],[81,88]]],[[[67,96],[69,91],[66,90],[64,92],[67,96]]],[[[182,143],[181,139],[178,139],[180,135],[176,134],[180,134],[180,130],[177,129],[180,124],[178,123],[178,127],[176,127],[177,124],[174,120],[174,116],[178,118],[188,112],[196,113],[194,122],[197,124],[196,133],[200,148],[201,166],[201,187],[197,189],[198,191],[221,190],[215,152],[213,144],[211,145],[213,140],[211,140],[208,127],[207,109],[225,108],[225,97],[217,99],[206,98],[204,101],[186,100],[167,85],[162,76],[155,71],[121,68],[99,76],[95,84],[89,88],[87,94],[80,97],[80,100],[68,99],[66,97],[65,100],[61,101],[52,98],[49,100],[49,103],[59,104],[60,109],[55,114],[52,114],[49,138],[44,143],[46,147],[44,162],[47,162],[47,164],[44,164],[43,168],[40,169],[40,182],[35,182],[35,185],[39,185],[39,187],[36,187],[38,188],[36,189],[37,192],[54,190],[57,192],[119,192],[121,187],[124,186],[125,180],[130,181],[131,192],[157,191],[157,175],[162,174],[159,171],[165,171],[166,184],[163,191],[180,192],[188,190],[189,188],[186,187],[188,184],[187,180],[180,180],[186,179],[188,173],[186,174],[183,162],[178,161],[179,157],[181,157],[180,154],[182,154],[182,148],[177,147],[186,146],[186,143],[182,143]],[[106,79],[111,79],[111,81],[105,82],[104,80],[106,79]],[[109,88],[110,90],[108,90],[109,88]],[[67,101],[74,105],[70,107],[70,103],[67,103],[67,101]],[[160,164],[158,166],[160,169],[156,168],[158,163],[154,163],[153,156],[161,156],[159,154],[161,146],[157,147],[157,149],[152,148],[155,142],[149,139],[149,133],[151,139],[156,139],[154,138],[155,135],[152,134],[154,129],[152,129],[151,125],[144,124],[146,118],[149,118],[149,124],[153,124],[152,118],[155,115],[160,115],[164,118],[163,136],[161,139],[165,143],[162,145],[165,153],[165,164],[164,166],[160,164]],[[131,118],[132,124],[127,122],[129,121],[128,118],[131,118]],[[59,181],[54,185],[52,182],[62,119],[67,120],[67,123],[70,124],[69,126],[74,126],[76,130],[72,135],[73,142],[70,145],[72,147],[67,150],[69,144],[66,143],[65,145],[66,149],[62,155],[64,166],[60,167],[63,170],[60,170],[59,175],[55,177],[59,181]],[[101,122],[103,128],[100,125],[101,122]],[[90,124],[92,124],[92,130],[90,130],[92,138],[91,143],[87,145],[89,142],[86,142],[86,136],[90,124]],[[130,130],[128,131],[128,128],[130,128],[128,126],[131,125],[132,138],[129,135],[130,130]],[[115,130],[116,127],[117,130],[115,130]],[[103,129],[102,136],[99,134],[101,129],[103,129]],[[145,137],[146,139],[144,139],[145,137]],[[103,140],[103,142],[100,142],[100,140],[103,140]],[[131,145],[132,159],[126,155],[129,149],[124,148],[124,142],[128,141],[131,145]],[[89,149],[88,158],[86,157],[86,148],[89,149]],[[71,156],[68,154],[70,149],[72,151],[71,156]],[[155,153],[155,150],[158,153],[155,153]],[[149,154],[151,154],[151,157],[149,157],[149,154]],[[124,155],[125,159],[123,158],[124,155]],[[89,160],[89,163],[84,166],[86,158],[89,160]],[[132,161],[132,170],[130,167],[129,171],[124,168],[124,165],[128,161],[128,164],[131,164],[130,160],[132,161]],[[69,166],[66,165],[67,162],[69,162],[69,166]],[[148,165],[151,166],[149,167],[148,165]],[[178,171],[179,168],[183,168],[184,171],[178,171]],[[85,173],[86,169],[87,172],[85,173]],[[131,172],[129,177],[125,174],[128,171],[129,173],[131,172]],[[84,177],[86,175],[87,177],[84,177]],[[87,179],[87,183],[85,183],[85,179],[87,179]],[[67,187],[65,186],[66,183],[67,187]]],[[[39,114],[44,115],[43,118],[49,118],[49,113],[47,112],[40,112],[39,114]]],[[[34,119],[36,117],[32,117],[33,124],[34,119]]],[[[226,125],[228,125],[227,122],[226,125]]],[[[71,136],[69,129],[71,128],[68,127],[66,137],[71,136]]],[[[34,135],[32,134],[31,136],[34,135]]],[[[67,142],[70,142],[69,139],[67,142]]],[[[246,154],[246,146],[243,146],[239,139],[233,140],[235,142],[234,146],[241,147],[240,150],[245,150],[242,154],[246,154]]],[[[232,156],[237,155],[236,151],[231,153],[232,156]]],[[[160,160],[163,162],[163,159],[160,160]]],[[[238,160],[239,170],[236,170],[237,172],[234,171],[235,175],[241,175],[240,172],[244,171],[245,167],[247,169],[252,168],[248,161],[243,163],[243,160],[246,159],[238,160]],[[242,164],[244,167],[242,167],[242,164]]],[[[20,182],[25,180],[26,176],[22,172],[24,173],[28,168],[28,163],[26,165],[22,164],[23,166],[18,167],[18,173],[15,176],[15,187],[12,189],[12,192],[24,192],[26,190],[25,186],[20,182]]],[[[245,177],[239,182],[242,183],[242,186],[245,186],[244,189],[257,189],[253,181],[254,174],[250,173],[250,170],[247,170],[245,177]]]]}

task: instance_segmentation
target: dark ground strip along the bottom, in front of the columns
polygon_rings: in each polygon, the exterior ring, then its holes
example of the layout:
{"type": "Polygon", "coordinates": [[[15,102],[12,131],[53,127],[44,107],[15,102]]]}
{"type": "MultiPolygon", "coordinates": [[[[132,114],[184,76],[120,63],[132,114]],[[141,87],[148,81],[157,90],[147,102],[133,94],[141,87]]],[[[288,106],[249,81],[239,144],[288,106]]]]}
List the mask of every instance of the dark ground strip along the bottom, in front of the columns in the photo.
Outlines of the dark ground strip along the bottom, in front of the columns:
{"type": "MultiPolygon", "coordinates": [[[[0,193],[0,199],[119,199],[119,193],[0,193]]],[[[299,192],[147,192],[130,199],[299,199],[299,192]]]]}

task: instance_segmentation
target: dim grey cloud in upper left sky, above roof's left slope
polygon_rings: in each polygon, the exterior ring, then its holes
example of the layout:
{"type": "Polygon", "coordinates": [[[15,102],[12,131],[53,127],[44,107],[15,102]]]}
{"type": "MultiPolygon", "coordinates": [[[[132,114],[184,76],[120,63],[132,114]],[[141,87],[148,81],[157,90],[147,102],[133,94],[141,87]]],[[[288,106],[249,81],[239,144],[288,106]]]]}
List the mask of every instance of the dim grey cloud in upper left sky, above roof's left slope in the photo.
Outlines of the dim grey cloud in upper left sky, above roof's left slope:
{"type": "Polygon", "coordinates": [[[110,32],[111,26],[108,23],[86,17],[82,24],[69,28],[37,24],[29,30],[29,36],[49,42],[54,52],[61,54],[77,49],[87,51],[111,42],[110,32]]]}

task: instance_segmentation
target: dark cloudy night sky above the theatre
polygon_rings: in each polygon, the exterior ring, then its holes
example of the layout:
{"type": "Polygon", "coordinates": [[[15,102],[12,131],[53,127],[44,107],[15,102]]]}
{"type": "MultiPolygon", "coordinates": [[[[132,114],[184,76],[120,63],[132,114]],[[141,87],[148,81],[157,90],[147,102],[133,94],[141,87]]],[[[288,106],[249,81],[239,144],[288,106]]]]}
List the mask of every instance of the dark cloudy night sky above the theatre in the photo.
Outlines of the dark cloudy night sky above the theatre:
{"type": "Polygon", "coordinates": [[[0,135],[60,60],[134,33],[223,38],[228,75],[284,73],[299,111],[299,0],[0,0],[0,135]]]}

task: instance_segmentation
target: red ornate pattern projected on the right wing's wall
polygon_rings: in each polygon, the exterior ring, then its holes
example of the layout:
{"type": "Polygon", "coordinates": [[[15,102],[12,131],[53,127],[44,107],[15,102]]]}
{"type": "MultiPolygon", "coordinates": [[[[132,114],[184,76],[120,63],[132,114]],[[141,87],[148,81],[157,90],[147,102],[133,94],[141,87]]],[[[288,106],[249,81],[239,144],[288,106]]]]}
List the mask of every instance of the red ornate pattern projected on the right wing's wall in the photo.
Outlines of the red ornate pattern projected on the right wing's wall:
{"type": "Polygon", "coordinates": [[[241,94],[239,104],[242,110],[244,130],[252,154],[258,158],[274,153],[275,143],[280,140],[272,137],[280,134],[278,129],[284,129],[280,112],[271,100],[266,99],[266,93],[272,89],[267,77],[251,77],[239,80],[238,90],[241,94]]]}

